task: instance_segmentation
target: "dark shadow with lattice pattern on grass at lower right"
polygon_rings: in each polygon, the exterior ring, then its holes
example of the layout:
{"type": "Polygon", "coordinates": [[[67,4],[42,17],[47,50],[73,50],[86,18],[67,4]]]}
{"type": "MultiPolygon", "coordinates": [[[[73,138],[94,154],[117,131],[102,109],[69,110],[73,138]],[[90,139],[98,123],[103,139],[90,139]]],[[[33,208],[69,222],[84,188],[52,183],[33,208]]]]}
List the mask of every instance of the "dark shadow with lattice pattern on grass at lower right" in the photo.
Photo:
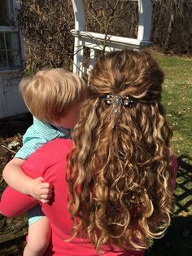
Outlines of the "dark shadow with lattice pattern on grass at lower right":
{"type": "Polygon", "coordinates": [[[181,155],[177,158],[177,188],[175,191],[175,217],[168,232],[153,245],[145,256],[190,256],[192,255],[192,158],[181,155]]]}

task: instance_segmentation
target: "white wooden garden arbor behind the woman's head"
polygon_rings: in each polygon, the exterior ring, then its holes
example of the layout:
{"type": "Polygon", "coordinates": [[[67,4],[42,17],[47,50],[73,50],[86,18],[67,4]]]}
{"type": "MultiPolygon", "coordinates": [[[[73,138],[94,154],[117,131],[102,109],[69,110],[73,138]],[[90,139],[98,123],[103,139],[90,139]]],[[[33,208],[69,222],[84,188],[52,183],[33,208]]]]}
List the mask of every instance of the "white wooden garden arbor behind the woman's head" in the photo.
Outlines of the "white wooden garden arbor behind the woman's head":
{"type": "Polygon", "coordinates": [[[105,35],[103,33],[85,31],[84,3],[82,0],[72,0],[75,17],[75,29],[71,30],[72,35],[75,37],[73,59],[74,73],[77,73],[80,76],[82,76],[82,73],[89,73],[89,70],[93,68],[95,51],[103,51],[104,42],[105,51],[121,50],[125,47],[139,51],[143,47],[151,46],[151,0],[126,1],[137,2],[138,4],[137,38],[124,38],[115,35],[105,35]],[[85,47],[90,48],[89,68],[83,66],[85,47]]]}

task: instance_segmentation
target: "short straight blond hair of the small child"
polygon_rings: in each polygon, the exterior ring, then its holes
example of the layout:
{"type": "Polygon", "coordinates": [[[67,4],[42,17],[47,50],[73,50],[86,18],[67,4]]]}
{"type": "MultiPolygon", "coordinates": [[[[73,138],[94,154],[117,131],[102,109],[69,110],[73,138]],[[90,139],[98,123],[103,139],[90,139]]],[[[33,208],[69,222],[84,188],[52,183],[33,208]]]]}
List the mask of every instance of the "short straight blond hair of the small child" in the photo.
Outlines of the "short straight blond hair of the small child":
{"type": "Polygon", "coordinates": [[[20,91],[29,111],[41,121],[52,123],[84,98],[85,83],[63,68],[46,69],[20,82],[20,91]]]}

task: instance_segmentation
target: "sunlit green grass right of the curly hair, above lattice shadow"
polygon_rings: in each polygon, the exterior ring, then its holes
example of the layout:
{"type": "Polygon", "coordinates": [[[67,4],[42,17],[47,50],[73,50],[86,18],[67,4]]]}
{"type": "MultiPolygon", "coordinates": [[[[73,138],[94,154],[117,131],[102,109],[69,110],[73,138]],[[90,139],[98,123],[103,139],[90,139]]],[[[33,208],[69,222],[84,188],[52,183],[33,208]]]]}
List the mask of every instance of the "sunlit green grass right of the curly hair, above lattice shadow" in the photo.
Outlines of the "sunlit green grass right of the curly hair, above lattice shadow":
{"type": "Polygon", "coordinates": [[[172,146],[177,156],[192,157],[192,59],[155,54],[164,69],[163,104],[174,137],[172,146]]]}

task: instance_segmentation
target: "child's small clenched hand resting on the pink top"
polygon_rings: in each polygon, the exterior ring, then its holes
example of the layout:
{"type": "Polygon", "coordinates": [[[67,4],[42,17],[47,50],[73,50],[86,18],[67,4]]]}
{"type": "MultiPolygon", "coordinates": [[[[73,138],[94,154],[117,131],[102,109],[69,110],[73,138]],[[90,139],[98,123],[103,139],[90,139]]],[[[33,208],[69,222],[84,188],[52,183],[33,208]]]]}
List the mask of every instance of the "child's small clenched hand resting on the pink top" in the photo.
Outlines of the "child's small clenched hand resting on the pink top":
{"type": "Polygon", "coordinates": [[[53,186],[50,183],[44,183],[42,177],[33,179],[30,182],[28,194],[33,198],[46,204],[50,201],[50,197],[53,193],[53,186]]]}

